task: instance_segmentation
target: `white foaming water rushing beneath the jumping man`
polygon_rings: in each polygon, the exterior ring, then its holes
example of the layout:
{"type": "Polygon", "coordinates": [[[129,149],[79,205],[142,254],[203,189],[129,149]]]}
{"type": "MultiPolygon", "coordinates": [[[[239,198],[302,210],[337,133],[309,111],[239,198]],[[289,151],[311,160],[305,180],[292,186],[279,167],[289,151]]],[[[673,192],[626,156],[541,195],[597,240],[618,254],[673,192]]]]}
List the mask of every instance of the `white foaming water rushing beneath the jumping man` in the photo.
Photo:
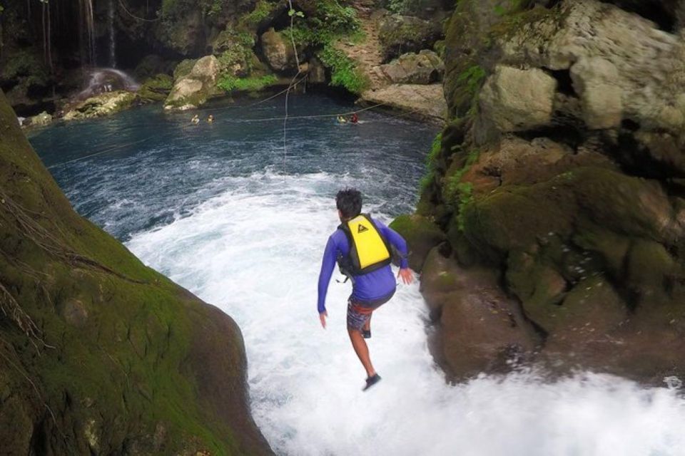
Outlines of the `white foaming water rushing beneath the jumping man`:
{"type": "MultiPolygon", "coordinates": [[[[225,177],[214,182],[223,192],[186,217],[128,242],[238,322],[253,415],[278,453],[685,455],[685,400],[675,388],[592,373],[447,385],[427,348],[417,286],[400,285],[374,316],[370,349],[383,380],[362,393],[345,332],[348,286],[330,284],[328,330],[316,313],[323,246],[337,225],[332,195],[360,183],[325,172],[225,177]]],[[[372,197],[370,209],[382,204],[372,197]]]]}

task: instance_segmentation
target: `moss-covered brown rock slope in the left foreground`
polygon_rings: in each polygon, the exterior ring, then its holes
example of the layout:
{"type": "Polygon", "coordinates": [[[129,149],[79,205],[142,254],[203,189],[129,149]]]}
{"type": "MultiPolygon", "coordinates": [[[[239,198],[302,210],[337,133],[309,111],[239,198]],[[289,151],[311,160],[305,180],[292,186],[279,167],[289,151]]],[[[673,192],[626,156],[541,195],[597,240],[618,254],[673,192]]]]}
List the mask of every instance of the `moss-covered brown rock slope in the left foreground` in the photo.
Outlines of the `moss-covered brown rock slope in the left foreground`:
{"type": "Polygon", "coordinates": [[[0,92],[5,455],[270,454],[233,320],[78,216],[0,92]]]}

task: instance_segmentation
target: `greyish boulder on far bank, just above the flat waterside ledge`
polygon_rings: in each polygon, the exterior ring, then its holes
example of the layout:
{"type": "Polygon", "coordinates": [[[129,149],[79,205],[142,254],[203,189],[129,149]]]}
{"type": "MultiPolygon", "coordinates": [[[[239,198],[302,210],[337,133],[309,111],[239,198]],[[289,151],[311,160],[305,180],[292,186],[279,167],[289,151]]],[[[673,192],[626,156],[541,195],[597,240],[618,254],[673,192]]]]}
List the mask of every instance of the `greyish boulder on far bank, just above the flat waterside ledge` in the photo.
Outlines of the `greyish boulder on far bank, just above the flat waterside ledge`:
{"type": "Polygon", "coordinates": [[[372,71],[390,84],[432,84],[442,81],[445,64],[435,52],[424,49],[419,53],[402,54],[372,71]]]}

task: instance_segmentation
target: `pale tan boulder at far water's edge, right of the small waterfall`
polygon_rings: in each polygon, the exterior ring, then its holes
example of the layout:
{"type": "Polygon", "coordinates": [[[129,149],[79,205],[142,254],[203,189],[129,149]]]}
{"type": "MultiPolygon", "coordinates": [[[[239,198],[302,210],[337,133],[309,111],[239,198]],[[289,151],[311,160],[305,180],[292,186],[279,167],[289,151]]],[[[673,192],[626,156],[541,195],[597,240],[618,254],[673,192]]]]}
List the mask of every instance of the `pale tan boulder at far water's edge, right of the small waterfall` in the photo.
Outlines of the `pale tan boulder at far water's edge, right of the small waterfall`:
{"type": "Polygon", "coordinates": [[[196,61],[193,70],[174,83],[164,102],[165,109],[188,110],[203,105],[216,92],[219,62],[215,56],[196,61]]]}

